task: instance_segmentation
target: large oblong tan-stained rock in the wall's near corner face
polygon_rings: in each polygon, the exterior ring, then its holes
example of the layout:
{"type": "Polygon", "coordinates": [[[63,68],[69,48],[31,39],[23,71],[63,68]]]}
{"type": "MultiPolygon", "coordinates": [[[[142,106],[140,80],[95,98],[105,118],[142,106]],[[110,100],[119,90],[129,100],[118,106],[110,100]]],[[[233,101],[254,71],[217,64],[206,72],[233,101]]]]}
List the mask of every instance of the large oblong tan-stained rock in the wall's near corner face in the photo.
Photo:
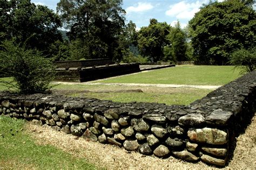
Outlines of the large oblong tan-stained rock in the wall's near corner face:
{"type": "Polygon", "coordinates": [[[190,140],[197,143],[212,145],[223,145],[226,144],[228,140],[227,132],[212,128],[189,130],[187,131],[187,136],[190,140]]]}

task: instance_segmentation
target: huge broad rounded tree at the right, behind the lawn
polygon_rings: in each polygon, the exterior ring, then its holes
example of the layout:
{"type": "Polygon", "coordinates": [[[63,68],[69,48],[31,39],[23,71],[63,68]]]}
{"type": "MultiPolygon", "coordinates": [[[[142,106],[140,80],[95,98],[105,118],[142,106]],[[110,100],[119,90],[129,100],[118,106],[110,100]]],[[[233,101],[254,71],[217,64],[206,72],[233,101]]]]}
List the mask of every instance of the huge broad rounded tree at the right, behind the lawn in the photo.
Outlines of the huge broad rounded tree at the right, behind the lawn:
{"type": "Polygon", "coordinates": [[[226,65],[234,49],[255,46],[255,19],[255,11],[240,1],[203,6],[189,22],[194,60],[226,65]]]}

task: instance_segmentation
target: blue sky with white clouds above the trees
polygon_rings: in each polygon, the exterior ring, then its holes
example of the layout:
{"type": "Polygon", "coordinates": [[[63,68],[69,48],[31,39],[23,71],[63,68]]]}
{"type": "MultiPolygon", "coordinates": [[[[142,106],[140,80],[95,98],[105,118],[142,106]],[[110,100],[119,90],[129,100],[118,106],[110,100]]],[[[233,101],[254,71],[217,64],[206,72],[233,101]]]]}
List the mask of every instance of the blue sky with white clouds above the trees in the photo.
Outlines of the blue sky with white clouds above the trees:
{"type": "MultiPolygon", "coordinates": [[[[123,9],[126,11],[126,22],[132,20],[137,30],[149,25],[150,18],[156,18],[158,22],[166,22],[172,26],[179,20],[181,27],[185,27],[199,11],[200,6],[210,0],[123,0],[123,9]]],[[[222,2],[223,0],[217,0],[222,2]]],[[[32,0],[35,4],[46,5],[56,11],[59,0],[32,0]]]]}

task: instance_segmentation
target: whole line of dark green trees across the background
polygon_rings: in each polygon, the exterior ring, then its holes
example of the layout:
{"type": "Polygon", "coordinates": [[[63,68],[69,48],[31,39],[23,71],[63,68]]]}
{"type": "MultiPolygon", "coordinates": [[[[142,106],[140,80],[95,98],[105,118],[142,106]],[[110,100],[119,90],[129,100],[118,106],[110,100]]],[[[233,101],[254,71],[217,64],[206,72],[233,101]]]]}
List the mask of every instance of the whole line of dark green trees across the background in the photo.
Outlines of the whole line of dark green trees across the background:
{"type": "Polygon", "coordinates": [[[0,44],[12,41],[55,61],[111,58],[228,65],[232,56],[239,58],[239,50],[255,54],[254,1],[210,2],[184,29],[152,18],[139,31],[132,21],[126,22],[122,3],[60,0],[55,13],[30,0],[1,0],[0,44]]]}

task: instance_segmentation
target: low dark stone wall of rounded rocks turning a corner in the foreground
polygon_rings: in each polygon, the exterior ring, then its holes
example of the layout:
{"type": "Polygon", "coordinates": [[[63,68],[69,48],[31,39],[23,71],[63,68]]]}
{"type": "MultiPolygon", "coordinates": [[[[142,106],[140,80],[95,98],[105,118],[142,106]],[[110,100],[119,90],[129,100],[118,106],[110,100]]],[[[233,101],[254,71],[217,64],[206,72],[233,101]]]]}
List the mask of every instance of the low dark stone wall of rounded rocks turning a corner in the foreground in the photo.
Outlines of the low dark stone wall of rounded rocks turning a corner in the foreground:
{"type": "Polygon", "coordinates": [[[256,72],[190,105],[44,94],[1,94],[0,103],[0,115],[25,118],[87,140],[145,155],[225,166],[233,152],[234,136],[256,109],[256,72]]]}

